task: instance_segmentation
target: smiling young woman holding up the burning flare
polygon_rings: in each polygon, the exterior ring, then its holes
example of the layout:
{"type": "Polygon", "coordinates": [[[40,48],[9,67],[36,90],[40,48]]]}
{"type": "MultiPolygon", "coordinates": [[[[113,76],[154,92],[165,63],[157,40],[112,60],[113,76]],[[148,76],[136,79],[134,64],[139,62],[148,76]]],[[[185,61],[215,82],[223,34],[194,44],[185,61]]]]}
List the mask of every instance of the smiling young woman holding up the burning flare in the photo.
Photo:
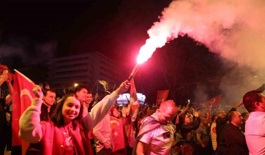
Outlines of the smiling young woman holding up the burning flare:
{"type": "Polygon", "coordinates": [[[128,90],[124,81],[118,89],[104,97],[83,117],[83,104],[72,94],[63,97],[56,106],[51,121],[40,121],[43,93],[38,85],[33,92],[37,98],[19,119],[19,137],[30,143],[41,143],[40,154],[93,154],[88,149],[88,132],[108,113],[120,93],[128,90]]]}

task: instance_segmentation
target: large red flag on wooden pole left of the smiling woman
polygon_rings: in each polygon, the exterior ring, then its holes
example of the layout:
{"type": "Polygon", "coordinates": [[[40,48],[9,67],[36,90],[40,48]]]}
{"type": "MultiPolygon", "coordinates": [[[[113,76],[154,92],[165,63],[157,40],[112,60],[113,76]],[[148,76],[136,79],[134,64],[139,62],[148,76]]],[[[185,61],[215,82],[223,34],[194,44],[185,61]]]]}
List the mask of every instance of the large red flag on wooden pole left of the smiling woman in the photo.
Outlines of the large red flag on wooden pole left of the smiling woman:
{"type": "Polygon", "coordinates": [[[19,118],[22,113],[31,105],[31,101],[35,98],[32,92],[33,85],[20,74],[15,72],[14,75],[14,95],[13,95],[13,117],[12,117],[12,145],[22,145],[22,154],[25,154],[29,143],[18,137],[19,118]]]}

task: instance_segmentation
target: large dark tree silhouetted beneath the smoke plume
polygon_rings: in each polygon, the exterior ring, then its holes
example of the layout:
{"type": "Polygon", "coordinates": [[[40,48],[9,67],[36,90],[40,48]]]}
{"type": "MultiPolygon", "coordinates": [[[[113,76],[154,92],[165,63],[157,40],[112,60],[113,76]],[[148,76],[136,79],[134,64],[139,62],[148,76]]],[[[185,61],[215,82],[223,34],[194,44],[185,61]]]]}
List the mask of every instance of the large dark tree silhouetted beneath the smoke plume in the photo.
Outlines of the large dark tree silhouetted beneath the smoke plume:
{"type": "Polygon", "coordinates": [[[216,85],[222,75],[218,71],[221,62],[219,56],[209,52],[206,47],[184,36],[156,52],[153,58],[157,63],[154,64],[169,89],[169,98],[174,101],[177,101],[177,97],[190,96],[197,84],[209,83],[218,88],[216,85]]]}

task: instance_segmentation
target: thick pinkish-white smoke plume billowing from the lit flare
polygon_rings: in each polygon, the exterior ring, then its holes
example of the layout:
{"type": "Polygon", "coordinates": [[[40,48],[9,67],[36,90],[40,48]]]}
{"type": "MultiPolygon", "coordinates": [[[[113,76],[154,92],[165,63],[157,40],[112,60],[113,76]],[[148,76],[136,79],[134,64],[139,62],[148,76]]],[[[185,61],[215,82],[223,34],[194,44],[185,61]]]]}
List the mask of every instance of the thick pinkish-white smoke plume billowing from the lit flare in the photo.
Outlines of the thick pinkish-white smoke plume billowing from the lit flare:
{"type": "Polygon", "coordinates": [[[244,93],[262,85],[263,78],[253,80],[253,77],[255,74],[264,76],[264,1],[174,0],[161,14],[159,21],[147,31],[150,38],[140,55],[152,55],[155,48],[187,34],[241,67],[223,77],[223,101],[240,100],[244,93]],[[250,68],[251,73],[242,71],[242,67],[250,68]],[[234,94],[237,95],[232,96],[234,94]]]}

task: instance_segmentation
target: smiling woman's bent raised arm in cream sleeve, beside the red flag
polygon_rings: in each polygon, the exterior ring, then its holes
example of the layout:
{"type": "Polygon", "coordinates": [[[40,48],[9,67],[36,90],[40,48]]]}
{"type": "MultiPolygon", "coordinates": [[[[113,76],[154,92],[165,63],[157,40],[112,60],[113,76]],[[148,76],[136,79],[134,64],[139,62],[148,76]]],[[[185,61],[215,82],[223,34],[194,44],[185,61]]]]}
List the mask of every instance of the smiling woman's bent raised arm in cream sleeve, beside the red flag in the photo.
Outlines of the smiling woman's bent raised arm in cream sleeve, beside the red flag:
{"type": "Polygon", "coordinates": [[[43,93],[39,85],[35,85],[33,92],[36,96],[32,100],[31,106],[29,106],[24,113],[22,113],[19,119],[19,133],[18,136],[24,141],[30,143],[37,143],[41,140],[42,126],[40,125],[40,109],[42,104],[43,93]]]}

